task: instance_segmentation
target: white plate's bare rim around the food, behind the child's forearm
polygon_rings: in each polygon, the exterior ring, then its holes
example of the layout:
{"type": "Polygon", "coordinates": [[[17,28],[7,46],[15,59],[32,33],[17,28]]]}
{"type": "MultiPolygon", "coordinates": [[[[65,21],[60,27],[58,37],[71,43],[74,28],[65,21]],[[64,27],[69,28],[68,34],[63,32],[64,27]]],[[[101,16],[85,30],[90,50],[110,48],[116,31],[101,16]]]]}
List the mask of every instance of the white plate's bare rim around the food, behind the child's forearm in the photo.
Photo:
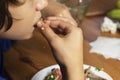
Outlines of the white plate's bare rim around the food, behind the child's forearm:
{"type": "MultiPolygon", "coordinates": [[[[84,69],[88,68],[89,65],[86,65],[84,64],[84,69]]],[[[46,67],[42,70],[40,70],[39,72],[37,72],[31,80],[44,80],[44,78],[51,72],[51,70],[53,68],[59,68],[59,66],[56,64],[56,65],[52,65],[52,66],[49,66],[49,67],[46,67]]],[[[113,80],[106,72],[104,71],[97,71],[95,67],[91,66],[91,70],[92,72],[94,72],[96,75],[100,76],[100,77],[103,77],[107,80],[113,80]]]]}

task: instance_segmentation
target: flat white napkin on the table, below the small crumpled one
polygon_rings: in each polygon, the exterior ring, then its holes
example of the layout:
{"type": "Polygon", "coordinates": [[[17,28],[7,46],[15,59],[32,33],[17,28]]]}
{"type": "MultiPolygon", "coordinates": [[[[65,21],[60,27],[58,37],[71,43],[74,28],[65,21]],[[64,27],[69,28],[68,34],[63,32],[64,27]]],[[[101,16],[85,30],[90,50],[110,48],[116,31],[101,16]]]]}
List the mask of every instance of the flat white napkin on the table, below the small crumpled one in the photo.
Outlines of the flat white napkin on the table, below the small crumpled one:
{"type": "Polygon", "coordinates": [[[96,41],[90,42],[90,45],[90,53],[97,53],[105,58],[120,60],[120,38],[100,36],[96,41]]]}

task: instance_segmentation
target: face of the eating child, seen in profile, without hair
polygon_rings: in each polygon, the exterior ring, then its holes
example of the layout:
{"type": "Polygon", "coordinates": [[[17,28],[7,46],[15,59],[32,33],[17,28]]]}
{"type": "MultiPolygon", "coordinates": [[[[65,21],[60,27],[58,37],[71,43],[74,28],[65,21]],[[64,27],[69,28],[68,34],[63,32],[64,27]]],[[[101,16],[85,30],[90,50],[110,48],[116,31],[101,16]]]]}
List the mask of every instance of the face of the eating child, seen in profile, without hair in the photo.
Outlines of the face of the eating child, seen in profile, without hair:
{"type": "Polygon", "coordinates": [[[10,4],[9,11],[15,19],[12,27],[7,32],[0,33],[0,36],[16,40],[30,38],[35,29],[34,25],[41,18],[41,10],[46,6],[47,0],[26,0],[21,6],[10,4]]]}

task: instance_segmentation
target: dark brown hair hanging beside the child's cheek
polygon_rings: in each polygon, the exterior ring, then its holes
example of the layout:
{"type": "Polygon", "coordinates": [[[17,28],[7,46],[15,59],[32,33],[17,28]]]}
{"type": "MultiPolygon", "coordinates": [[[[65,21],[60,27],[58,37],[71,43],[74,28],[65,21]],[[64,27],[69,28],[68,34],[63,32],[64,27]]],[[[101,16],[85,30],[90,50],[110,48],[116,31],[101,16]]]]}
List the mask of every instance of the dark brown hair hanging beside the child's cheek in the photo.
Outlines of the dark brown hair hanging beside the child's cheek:
{"type": "Polygon", "coordinates": [[[0,0],[0,29],[2,29],[4,26],[6,31],[10,29],[13,23],[12,16],[8,10],[9,4],[18,5],[19,1],[18,0],[0,0]]]}

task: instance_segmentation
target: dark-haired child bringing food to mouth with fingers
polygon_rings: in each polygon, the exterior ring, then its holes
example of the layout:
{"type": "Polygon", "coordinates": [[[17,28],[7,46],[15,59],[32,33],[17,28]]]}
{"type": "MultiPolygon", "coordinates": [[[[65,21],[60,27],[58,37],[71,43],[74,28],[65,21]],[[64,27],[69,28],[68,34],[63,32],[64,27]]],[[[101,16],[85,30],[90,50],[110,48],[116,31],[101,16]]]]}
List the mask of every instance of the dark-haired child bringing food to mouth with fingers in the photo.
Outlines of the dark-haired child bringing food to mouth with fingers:
{"type": "MultiPolygon", "coordinates": [[[[82,31],[65,17],[48,17],[42,21],[41,10],[47,4],[47,0],[1,0],[0,39],[29,39],[37,28],[49,42],[63,80],[84,80],[82,31]]],[[[3,41],[0,40],[0,80],[6,80],[2,67],[3,41]]]]}

